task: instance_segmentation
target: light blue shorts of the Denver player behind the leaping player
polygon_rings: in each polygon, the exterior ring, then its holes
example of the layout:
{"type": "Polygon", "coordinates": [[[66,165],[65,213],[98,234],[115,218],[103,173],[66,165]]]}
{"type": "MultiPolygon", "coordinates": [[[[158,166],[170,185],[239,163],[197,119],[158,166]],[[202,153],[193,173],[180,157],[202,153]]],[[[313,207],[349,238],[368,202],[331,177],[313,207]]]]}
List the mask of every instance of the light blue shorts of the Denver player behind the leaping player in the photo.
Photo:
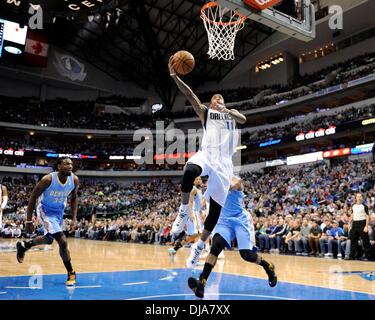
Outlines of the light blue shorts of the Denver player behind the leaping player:
{"type": "Polygon", "coordinates": [[[254,225],[249,219],[238,217],[219,218],[213,235],[220,234],[231,247],[231,242],[237,239],[239,250],[253,250],[255,247],[254,225]]]}

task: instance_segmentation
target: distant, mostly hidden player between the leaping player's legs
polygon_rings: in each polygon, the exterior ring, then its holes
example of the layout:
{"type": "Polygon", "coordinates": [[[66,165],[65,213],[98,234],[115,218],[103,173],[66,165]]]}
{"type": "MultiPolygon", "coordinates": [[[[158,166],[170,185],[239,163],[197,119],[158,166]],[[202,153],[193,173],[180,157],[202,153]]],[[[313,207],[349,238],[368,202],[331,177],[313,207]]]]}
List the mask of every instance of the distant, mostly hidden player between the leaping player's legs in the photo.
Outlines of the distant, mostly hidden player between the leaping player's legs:
{"type": "Polygon", "coordinates": [[[190,192],[189,198],[189,219],[186,224],[186,231],[182,231],[175,239],[175,245],[173,248],[168,249],[168,254],[171,262],[174,261],[174,256],[177,251],[181,249],[185,244],[194,243],[200,230],[201,221],[201,210],[202,210],[202,192],[200,186],[202,185],[201,177],[197,177],[194,180],[193,190],[190,192]],[[185,237],[185,238],[184,238],[185,237]]]}

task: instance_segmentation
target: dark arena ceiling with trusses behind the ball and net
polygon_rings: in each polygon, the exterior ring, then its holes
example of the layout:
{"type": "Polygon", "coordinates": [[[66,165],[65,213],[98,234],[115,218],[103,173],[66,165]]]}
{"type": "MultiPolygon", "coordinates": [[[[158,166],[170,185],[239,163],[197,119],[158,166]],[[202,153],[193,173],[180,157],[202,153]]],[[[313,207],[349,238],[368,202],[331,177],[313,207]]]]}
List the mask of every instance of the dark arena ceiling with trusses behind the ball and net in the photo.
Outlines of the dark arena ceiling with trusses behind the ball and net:
{"type": "Polygon", "coordinates": [[[167,107],[176,96],[167,69],[171,54],[184,49],[194,55],[196,67],[186,79],[198,87],[223,79],[274,32],[248,20],[237,35],[236,59],[222,62],[207,56],[207,34],[199,13],[208,1],[108,0],[90,10],[69,10],[69,4],[78,8],[78,0],[60,1],[65,7],[57,7],[59,0],[50,1],[47,3],[55,3],[54,7],[45,10],[57,17],[45,28],[53,44],[117,80],[133,81],[143,88],[154,86],[167,107]],[[107,12],[112,14],[108,26],[107,12]]]}

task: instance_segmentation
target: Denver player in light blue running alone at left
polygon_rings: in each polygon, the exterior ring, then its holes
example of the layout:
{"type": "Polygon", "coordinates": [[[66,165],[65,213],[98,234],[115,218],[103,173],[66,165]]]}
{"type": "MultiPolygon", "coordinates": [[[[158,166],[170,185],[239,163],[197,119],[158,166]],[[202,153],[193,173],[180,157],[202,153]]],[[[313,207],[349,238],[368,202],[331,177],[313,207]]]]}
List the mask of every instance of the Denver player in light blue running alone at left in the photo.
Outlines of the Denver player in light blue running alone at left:
{"type": "Polygon", "coordinates": [[[64,209],[70,197],[72,208],[72,228],[77,223],[78,177],[72,173],[73,162],[69,158],[61,158],[57,162],[57,171],[45,175],[35,186],[27,207],[26,232],[33,232],[32,216],[36,208],[38,218],[44,226],[44,236],[30,241],[17,242],[17,260],[23,262],[27,250],[34,246],[52,244],[56,240],[60,248],[60,256],[68,272],[67,286],[75,285],[76,273],[70,261],[70,252],[66,237],[62,232],[64,209]]]}

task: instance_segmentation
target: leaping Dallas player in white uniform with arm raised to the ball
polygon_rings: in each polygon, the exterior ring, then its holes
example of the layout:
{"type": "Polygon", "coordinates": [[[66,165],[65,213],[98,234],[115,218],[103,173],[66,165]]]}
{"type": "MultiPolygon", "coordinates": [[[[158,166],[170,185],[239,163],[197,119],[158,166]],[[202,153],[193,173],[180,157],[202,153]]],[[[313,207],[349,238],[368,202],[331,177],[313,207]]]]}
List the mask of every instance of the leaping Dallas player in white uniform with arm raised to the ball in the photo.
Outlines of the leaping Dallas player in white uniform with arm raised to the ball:
{"type": "Polygon", "coordinates": [[[186,96],[197,113],[203,126],[201,150],[192,156],[185,165],[182,178],[182,204],[172,226],[172,233],[180,234],[189,218],[189,196],[193,182],[198,176],[209,176],[205,198],[210,203],[210,210],[204,222],[204,230],[197,243],[192,246],[187,267],[198,263],[204,243],[214,229],[220,216],[221,208],[229,191],[233,176],[232,156],[238,143],[236,123],[245,123],[246,117],[237,110],[228,110],[224,98],[215,94],[209,106],[203,105],[194,92],[176,74],[173,56],[168,63],[169,73],[177,87],[186,96]]]}

